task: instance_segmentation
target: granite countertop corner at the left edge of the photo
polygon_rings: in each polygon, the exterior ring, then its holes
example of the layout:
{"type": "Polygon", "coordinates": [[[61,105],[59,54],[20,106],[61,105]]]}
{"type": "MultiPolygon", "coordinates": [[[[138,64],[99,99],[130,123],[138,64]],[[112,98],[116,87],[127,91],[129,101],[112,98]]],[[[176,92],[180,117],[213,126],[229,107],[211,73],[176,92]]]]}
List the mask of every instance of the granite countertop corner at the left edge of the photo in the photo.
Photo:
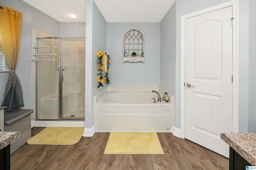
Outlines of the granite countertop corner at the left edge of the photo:
{"type": "Polygon", "coordinates": [[[0,150],[20,137],[20,132],[0,131],[0,150]]]}

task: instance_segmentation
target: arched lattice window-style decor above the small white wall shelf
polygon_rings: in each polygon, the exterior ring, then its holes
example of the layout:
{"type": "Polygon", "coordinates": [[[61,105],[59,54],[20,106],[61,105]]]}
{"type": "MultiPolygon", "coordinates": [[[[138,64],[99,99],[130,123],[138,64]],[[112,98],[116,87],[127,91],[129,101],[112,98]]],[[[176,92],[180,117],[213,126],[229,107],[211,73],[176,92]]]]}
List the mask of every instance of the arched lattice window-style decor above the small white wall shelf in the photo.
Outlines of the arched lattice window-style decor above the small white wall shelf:
{"type": "Polygon", "coordinates": [[[136,57],[141,56],[142,52],[144,53],[144,35],[138,29],[130,29],[124,34],[123,38],[123,54],[127,53],[127,57],[132,57],[132,53],[136,53],[136,57]]]}

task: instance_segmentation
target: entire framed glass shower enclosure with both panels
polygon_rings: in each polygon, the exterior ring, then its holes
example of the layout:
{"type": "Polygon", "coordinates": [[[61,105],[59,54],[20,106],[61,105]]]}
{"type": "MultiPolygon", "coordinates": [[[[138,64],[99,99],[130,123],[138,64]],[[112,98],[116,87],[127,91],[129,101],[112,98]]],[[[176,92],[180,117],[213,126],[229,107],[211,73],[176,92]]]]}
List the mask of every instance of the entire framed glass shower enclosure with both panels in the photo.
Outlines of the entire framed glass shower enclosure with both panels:
{"type": "Polygon", "coordinates": [[[84,120],[85,38],[37,37],[36,120],[84,120]]]}

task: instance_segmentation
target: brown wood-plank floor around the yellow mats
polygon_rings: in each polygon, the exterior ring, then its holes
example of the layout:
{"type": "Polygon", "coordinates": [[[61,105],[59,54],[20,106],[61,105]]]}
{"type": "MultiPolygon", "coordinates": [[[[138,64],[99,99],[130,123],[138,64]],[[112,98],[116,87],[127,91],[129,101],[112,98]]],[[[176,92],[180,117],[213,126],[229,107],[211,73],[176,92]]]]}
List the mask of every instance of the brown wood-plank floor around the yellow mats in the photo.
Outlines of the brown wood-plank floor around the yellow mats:
{"type": "MultiPolygon", "coordinates": [[[[32,136],[43,128],[33,127],[32,136]]],[[[75,145],[25,144],[11,155],[12,170],[228,170],[228,158],[194,142],[158,133],[164,154],[103,154],[110,133],[75,145]]]]}

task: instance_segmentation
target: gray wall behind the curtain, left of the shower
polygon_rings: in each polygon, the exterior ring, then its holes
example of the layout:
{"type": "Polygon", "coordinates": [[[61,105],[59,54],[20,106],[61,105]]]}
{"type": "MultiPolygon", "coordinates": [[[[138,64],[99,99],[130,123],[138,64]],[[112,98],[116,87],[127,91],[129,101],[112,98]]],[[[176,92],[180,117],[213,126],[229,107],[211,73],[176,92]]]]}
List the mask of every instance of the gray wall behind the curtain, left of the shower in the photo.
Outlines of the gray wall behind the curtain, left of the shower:
{"type": "MultiPolygon", "coordinates": [[[[8,0],[0,2],[4,6],[12,7],[22,12],[22,29],[20,38],[20,50],[16,74],[20,79],[23,91],[24,107],[32,108],[32,28],[42,30],[54,36],[60,35],[60,22],[30,6],[22,0],[8,0]]],[[[8,74],[0,76],[0,102],[4,99],[4,91],[8,74]]]]}

